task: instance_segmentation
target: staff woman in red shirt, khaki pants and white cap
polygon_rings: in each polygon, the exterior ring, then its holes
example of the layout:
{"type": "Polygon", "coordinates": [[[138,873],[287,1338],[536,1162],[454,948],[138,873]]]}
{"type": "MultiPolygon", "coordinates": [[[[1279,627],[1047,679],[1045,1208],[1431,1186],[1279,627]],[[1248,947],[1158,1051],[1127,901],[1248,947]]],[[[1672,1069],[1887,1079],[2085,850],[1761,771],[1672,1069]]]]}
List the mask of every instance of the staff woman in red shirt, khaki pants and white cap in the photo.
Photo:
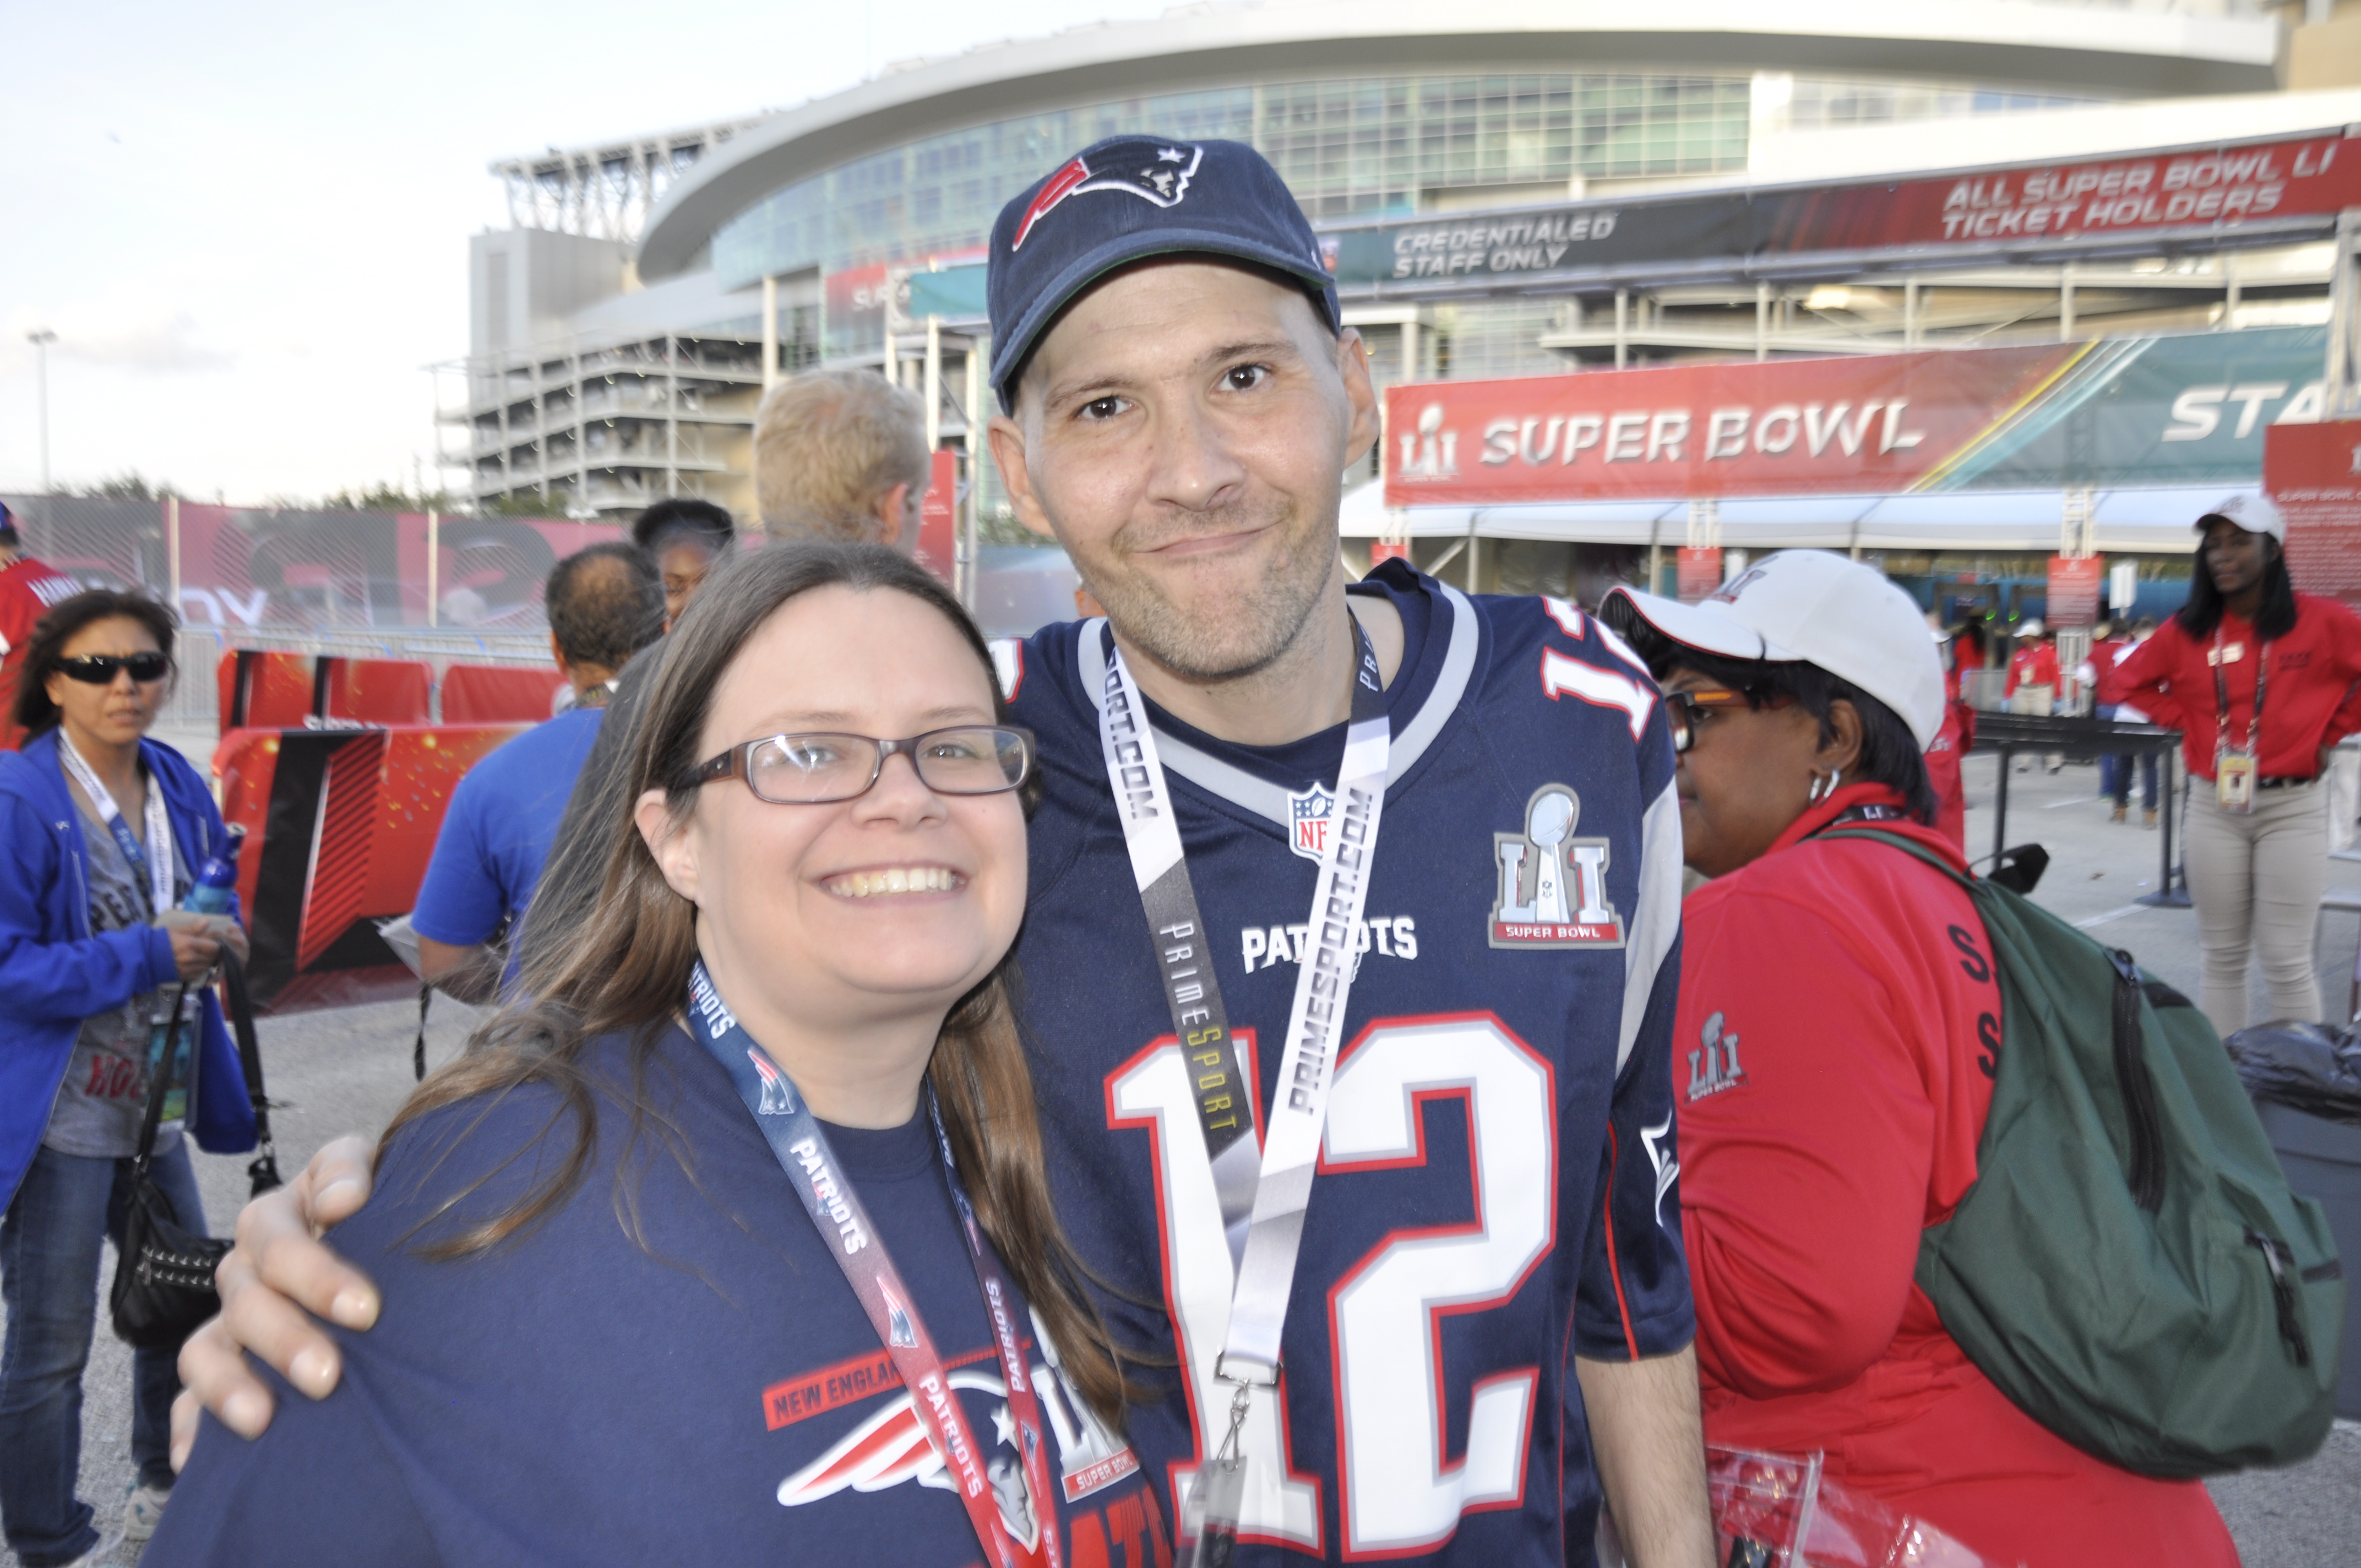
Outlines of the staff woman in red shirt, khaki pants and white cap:
{"type": "Polygon", "coordinates": [[[2311,926],[2328,886],[2328,749],[2361,730],[2361,616],[2288,581],[2288,524],[2262,496],[2196,522],[2189,602],[2099,678],[2182,732],[2189,895],[2205,952],[2205,1015],[2248,1025],[2248,954],[2271,987],[2267,1018],[2321,1015],[2311,926]]]}

